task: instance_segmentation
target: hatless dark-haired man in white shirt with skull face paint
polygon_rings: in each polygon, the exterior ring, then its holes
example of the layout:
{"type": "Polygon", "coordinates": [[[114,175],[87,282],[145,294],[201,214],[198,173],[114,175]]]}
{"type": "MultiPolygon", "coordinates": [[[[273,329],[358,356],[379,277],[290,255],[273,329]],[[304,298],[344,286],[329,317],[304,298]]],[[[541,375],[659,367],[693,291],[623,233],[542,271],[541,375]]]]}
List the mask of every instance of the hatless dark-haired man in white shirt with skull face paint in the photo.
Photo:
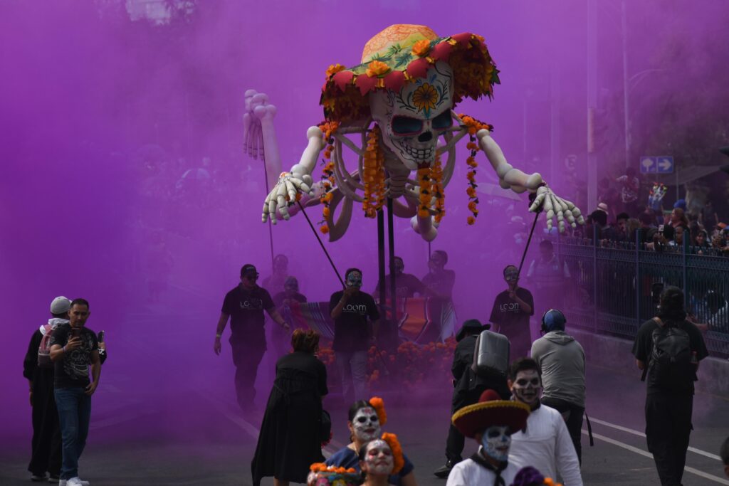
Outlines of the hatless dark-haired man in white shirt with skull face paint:
{"type": "Polygon", "coordinates": [[[520,358],[509,369],[512,400],[525,404],[531,413],[526,427],[512,436],[509,461],[519,468],[535,467],[548,477],[557,473],[568,486],[582,486],[580,462],[564,418],[552,407],[542,405],[542,377],[531,358],[520,358]]]}

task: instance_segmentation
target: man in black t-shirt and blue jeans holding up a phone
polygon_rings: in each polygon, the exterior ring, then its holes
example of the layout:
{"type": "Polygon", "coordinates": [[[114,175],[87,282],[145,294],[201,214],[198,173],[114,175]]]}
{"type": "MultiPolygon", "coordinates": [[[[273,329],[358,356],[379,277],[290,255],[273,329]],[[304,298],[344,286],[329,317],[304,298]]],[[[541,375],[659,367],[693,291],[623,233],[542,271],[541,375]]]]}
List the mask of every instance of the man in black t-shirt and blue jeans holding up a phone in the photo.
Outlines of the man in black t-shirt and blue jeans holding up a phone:
{"type": "Polygon", "coordinates": [[[74,299],[69,308],[69,324],[58,326],[50,339],[50,358],[55,368],[55,404],[63,450],[61,481],[65,481],[67,486],[88,484],[79,479],[79,457],[89,431],[91,396],[101,376],[98,338],[85,326],[90,315],[88,301],[74,299]]]}

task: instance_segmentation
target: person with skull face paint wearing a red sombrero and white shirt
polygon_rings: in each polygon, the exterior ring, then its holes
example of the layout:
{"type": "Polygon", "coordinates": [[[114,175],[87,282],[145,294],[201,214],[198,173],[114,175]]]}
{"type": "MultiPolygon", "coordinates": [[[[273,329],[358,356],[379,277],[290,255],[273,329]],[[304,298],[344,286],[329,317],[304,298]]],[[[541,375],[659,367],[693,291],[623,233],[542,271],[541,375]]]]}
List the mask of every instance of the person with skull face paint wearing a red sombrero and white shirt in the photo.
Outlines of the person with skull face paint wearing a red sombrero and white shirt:
{"type": "Polygon", "coordinates": [[[529,407],[518,401],[502,400],[486,390],[478,403],[453,414],[453,426],[475,439],[478,452],[451,469],[446,486],[507,486],[519,468],[510,463],[511,436],[526,424],[529,407]]]}

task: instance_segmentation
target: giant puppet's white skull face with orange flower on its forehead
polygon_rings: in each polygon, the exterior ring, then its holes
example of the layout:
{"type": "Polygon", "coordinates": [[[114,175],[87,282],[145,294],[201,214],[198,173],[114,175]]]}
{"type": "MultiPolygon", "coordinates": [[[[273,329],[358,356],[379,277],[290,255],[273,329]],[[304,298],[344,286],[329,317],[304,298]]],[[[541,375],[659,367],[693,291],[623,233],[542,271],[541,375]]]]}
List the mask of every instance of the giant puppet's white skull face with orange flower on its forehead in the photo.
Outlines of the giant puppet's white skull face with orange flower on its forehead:
{"type": "Polygon", "coordinates": [[[410,171],[432,165],[438,137],[453,125],[452,108],[453,70],[443,61],[399,92],[370,93],[370,111],[384,144],[410,171]]]}

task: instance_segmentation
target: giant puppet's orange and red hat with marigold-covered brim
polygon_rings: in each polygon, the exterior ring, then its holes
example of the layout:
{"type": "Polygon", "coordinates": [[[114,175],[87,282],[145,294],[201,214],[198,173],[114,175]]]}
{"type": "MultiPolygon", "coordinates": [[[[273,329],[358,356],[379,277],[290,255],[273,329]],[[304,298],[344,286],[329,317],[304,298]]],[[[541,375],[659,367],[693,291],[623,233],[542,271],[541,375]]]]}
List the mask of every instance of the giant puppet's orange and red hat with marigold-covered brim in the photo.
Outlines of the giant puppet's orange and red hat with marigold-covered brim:
{"type": "Polygon", "coordinates": [[[377,89],[399,91],[406,82],[424,78],[437,61],[453,69],[453,101],[491,98],[499,84],[499,71],[483,37],[470,32],[440,37],[426,26],[397,24],[364,45],[362,61],[346,68],[333,64],[321,88],[327,119],[347,123],[370,116],[367,93],[377,89]]]}

